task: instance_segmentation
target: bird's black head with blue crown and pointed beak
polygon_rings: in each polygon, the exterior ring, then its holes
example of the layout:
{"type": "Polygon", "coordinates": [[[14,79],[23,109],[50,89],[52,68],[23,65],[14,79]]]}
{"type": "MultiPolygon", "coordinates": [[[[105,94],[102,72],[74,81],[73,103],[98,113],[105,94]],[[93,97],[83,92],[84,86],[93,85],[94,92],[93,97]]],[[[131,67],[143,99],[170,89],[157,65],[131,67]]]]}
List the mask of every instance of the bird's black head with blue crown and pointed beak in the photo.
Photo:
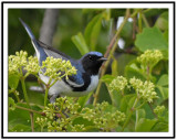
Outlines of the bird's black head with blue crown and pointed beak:
{"type": "Polygon", "coordinates": [[[90,52],[81,58],[81,63],[86,73],[97,75],[100,67],[106,60],[100,52],[90,52]]]}

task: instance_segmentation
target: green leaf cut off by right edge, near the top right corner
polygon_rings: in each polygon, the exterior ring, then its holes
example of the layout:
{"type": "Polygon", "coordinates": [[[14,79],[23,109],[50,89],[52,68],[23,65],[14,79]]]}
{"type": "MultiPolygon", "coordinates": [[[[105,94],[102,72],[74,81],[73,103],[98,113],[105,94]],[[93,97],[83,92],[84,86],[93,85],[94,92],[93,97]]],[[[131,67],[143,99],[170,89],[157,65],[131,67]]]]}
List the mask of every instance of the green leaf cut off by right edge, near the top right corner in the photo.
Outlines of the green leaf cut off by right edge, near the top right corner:
{"type": "Polygon", "coordinates": [[[159,30],[168,30],[168,11],[163,12],[159,18],[157,19],[155,25],[159,29],[159,30]]]}

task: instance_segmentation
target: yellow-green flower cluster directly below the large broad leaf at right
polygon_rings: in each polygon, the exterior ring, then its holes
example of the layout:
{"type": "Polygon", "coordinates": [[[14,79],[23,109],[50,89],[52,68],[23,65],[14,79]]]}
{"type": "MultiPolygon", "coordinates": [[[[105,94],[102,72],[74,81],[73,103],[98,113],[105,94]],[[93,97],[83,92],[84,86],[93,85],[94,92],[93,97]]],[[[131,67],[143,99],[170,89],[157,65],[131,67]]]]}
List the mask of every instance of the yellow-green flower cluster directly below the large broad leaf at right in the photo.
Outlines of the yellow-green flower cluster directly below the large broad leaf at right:
{"type": "Polygon", "coordinates": [[[145,66],[147,65],[154,66],[162,58],[163,54],[159,50],[147,50],[144,52],[144,54],[137,57],[137,61],[145,66]]]}

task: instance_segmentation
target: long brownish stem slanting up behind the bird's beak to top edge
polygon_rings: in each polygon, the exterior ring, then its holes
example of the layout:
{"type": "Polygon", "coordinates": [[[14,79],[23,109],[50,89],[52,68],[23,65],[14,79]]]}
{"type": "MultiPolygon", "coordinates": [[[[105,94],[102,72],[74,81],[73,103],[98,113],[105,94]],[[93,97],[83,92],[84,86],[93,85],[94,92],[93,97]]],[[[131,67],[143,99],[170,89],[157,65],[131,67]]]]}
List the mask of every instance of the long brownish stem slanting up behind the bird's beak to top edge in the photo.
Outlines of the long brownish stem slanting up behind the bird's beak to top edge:
{"type": "MultiPolygon", "coordinates": [[[[105,53],[105,57],[107,57],[107,55],[108,55],[108,58],[107,58],[107,61],[105,62],[105,64],[102,66],[102,71],[101,71],[101,77],[105,74],[105,72],[106,72],[106,68],[107,68],[107,66],[108,66],[108,64],[110,64],[110,62],[111,62],[111,56],[113,55],[113,53],[114,53],[114,51],[116,50],[116,47],[117,47],[117,42],[118,42],[118,40],[119,40],[119,33],[121,33],[121,31],[123,30],[123,28],[124,28],[124,25],[125,25],[125,23],[127,22],[127,19],[129,18],[129,9],[127,9],[126,10],[126,14],[125,14],[125,18],[124,18],[124,21],[123,21],[123,23],[121,24],[121,26],[118,28],[118,30],[117,30],[117,32],[116,32],[116,34],[114,35],[114,37],[112,39],[112,41],[111,41],[111,43],[110,43],[110,45],[108,45],[108,47],[107,47],[107,51],[106,51],[106,53],[105,53]]],[[[101,89],[101,86],[102,86],[102,82],[101,80],[98,80],[98,85],[97,85],[97,88],[96,88],[96,91],[95,91],[95,94],[94,94],[94,100],[93,100],[93,105],[95,106],[96,105],[96,103],[97,103],[97,98],[98,98],[98,93],[100,93],[100,89],[101,89]]]]}

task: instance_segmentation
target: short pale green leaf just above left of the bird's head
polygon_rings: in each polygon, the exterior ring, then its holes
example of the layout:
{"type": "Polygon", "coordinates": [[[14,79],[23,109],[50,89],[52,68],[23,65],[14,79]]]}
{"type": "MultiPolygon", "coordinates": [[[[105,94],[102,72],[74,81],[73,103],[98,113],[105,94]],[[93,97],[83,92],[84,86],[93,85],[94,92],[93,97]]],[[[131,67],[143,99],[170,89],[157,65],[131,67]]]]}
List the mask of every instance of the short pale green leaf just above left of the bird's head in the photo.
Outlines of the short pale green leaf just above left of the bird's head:
{"type": "Polygon", "coordinates": [[[77,35],[72,36],[72,41],[82,55],[90,52],[85,39],[81,32],[77,33],[77,35]]]}

